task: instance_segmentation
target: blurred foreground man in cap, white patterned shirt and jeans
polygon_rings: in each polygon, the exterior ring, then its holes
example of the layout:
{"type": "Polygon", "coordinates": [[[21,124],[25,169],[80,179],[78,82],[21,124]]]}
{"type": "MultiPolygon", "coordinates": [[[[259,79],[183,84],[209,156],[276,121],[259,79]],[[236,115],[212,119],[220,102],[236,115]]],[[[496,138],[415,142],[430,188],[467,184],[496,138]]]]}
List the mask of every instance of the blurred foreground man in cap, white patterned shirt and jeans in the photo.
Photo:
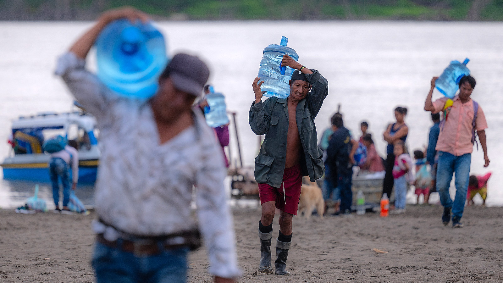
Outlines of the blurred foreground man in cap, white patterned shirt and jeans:
{"type": "Polygon", "coordinates": [[[97,282],[185,282],[188,252],[200,246],[199,231],[215,282],[235,282],[240,271],[221,148],[202,114],[192,109],[209,69],[196,56],[177,54],[160,74],[151,99],[119,96],[85,64],[101,30],[121,18],[148,21],[132,8],[105,12],[56,68],[101,131],[95,185],[99,220],[93,222],[97,282]],[[197,223],[191,211],[193,185],[197,223]]]}

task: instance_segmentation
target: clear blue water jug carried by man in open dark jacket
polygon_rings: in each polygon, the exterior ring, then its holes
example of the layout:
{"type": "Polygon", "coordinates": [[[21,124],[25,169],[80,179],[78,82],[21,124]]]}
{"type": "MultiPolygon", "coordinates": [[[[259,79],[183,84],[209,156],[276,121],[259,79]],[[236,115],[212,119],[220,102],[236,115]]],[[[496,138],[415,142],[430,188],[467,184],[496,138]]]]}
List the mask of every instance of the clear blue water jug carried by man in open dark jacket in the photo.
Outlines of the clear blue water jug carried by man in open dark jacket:
{"type": "Polygon", "coordinates": [[[281,43],[271,44],[264,48],[264,57],[260,61],[259,77],[262,84],[262,91],[266,91],[264,96],[286,98],[290,95],[288,81],[292,78],[293,69],[291,67],[281,67],[283,55],[288,54],[295,61],[299,60],[297,52],[290,47],[286,47],[288,38],[281,37],[281,43]]]}

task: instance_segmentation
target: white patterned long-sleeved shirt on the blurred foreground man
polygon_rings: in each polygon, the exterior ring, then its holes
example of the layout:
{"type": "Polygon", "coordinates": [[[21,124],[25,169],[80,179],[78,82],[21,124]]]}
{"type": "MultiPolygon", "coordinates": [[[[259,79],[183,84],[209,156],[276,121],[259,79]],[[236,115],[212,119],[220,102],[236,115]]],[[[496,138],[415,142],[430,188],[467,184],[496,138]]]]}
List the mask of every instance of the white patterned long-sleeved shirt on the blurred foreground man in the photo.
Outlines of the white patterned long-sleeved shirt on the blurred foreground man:
{"type": "Polygon", "coordinates": [[[190,208],[194,184],[209,271],[221,277],[238,276],[223,157],[204,117],[194,111],[191,127],[160,144],[150,103],[118,96],[88,72],[85,63],[68,52],[59,58],[56,75],[98,122],[102,151],[95,205],[99,217],[138,236],[193,229],[197,226],[190,208]]]}

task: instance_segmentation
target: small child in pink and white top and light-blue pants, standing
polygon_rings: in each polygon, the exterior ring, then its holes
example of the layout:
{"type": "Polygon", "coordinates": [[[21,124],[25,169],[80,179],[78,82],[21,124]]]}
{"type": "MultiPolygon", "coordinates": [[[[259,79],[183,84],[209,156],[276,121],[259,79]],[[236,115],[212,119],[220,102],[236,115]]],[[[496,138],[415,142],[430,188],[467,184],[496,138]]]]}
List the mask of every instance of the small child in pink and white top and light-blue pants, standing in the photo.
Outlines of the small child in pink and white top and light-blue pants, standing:
{"type": "Polygon", "coordinates": [[[393,154],[395,155],[395,166],[393,166],[393,179],[395,185],[395,210],[393,214],[405,212],[405,200],[407,195],[407,181],[412,182],[413,175],[412,160],[406,153],[407,148],[402,140],[397,140],[394,144],[393,154]],[[412,176],[412,177],[411,177],[412,176]]]}

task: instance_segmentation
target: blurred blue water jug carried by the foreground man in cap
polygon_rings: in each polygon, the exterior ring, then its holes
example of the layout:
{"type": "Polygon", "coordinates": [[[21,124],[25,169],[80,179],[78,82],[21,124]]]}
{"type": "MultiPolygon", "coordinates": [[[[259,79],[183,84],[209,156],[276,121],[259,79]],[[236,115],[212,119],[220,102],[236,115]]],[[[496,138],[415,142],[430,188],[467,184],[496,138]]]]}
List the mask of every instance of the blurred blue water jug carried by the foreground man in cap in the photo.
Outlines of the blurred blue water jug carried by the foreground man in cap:
{"type": "Polygon", "coordinates": [[[162,34],[151,24],[120,19],[108,24],[95,43],[98,78],[131,98],[149,98],[169,59],[162,34]]]}

